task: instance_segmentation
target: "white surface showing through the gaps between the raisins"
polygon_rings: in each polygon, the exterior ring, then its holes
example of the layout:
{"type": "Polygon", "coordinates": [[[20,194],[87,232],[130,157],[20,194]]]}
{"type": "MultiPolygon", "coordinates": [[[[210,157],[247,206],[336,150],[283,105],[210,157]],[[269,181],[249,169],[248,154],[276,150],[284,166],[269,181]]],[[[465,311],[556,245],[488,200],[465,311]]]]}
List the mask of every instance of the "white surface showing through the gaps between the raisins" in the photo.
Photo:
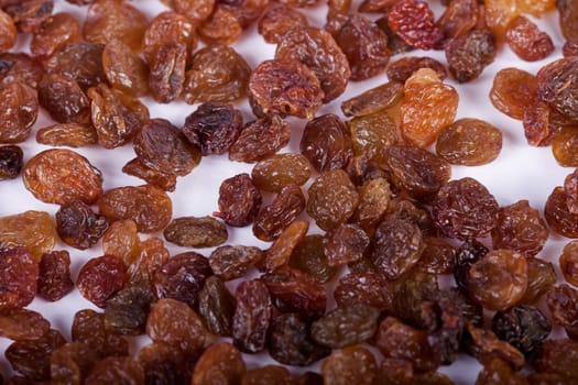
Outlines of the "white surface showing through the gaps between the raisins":
{"type": "MultiPolygon", "coordinates": [[[[436,16],[439,16],[441,7],[438,1],[435,3],[436,16]]],[[[61,10],[68,10],[78,18],[81,18],[84,10],[66,3],[64,0],[55,1],[55,12],[61,10]]],[[[135,7],[142,9],[149,16],[153,16],[157,12],[166,8],[159,1],[141,0],[132,2],[135,7]]],[[[357,9],[358,2],[355,2],[352,9],[357,9]]],[[[325,22],[326,8],[319,6],[314,9],[303,10],[307,12],[309,22],[314,26],[321,28],[325,22]]],[[[375,18],[375,15],[370,15],[375,18]]],[[[535,20],[535,19],[533,19],[535,20]]],[[[545,63],[550,62],[560,56],[560,47],[563,38],[559,33],[558,16],[556,12],[549,13],[542,20],[538,20],[538,25],[549,33],[555,42],[556,51],[546,61],[536,63],[526,63],[519,59],[506,46],[502,46],[499,51],[495,62],[486,68],[479,79],[466,85],[457,85],[451,79],[447,82],[451,84],[458,89],[460,102],[457,118],[479,118],[483,119],[493,125],[500,128],[503,132],[503,150],[494,162],[489,165],[480,167],[454,167],[452,178],[460,178],[464,176],[471,176],[484,184],[489,190],[495,196],[500,205],[510,205],[520,199],[528,199],[532,207],[537,208],[541,212],[544,208],[547,196],[555,186],[561,185],[564,177],[571,172],[569,168],[560,167],[552,155],[550,147],[531,147],[526,144],[523,135],[523,129],[520,121],[512,120],[506,116],[498,112],[489,101],[488,94],[492,84],[494,74],[504,67],[517,67],[535,74],[537,69],[545,63]]],[[[254,68],[263,59],[272,58],[274,55],[274,45],[266,44],[260,35],[255,32],[257,28],[253,25],[248,32],[243,34],[241,40],[237,42],[233,47],[247,59],[252,68],[254,68]]],[[[23,41],[28,41],[23,38],[23,41]]],[[[23,47],[21,44],[20,47],[23,47]]],[[[429,55],[445,63],[443,52],[413,52],[411,55],[423,56],[429,55]]],[[[399,58],[394,57],[393,59],[399,58]]],[[[362,90],[377,86],[386,81],[385,75],[377,76],[370,80],[352,82],[348,86],[346,94],[339,99],[335,100],[330,106],[324,106],[318,114],[334,112],[340,116],[339,109],[341,100],[352,97],[362,90]]],[[[145,99],[151,112],[151,118],[165,118],[172,121],[175,125],[182,127],[187,114],[196,109],[196,106],[188,106],[184,102],[174,102],[171,105],[159,105],[151,99],[145,99]]],[[[252,119],[247,101],[238,102],[239,108],[244,116],[244,121],[252,119]]],[[[294,135],[291,144],[283,148],[282,152],[298,151],[298,142],[301,132],[305,125],[304,120],[290,118],[294,135]]],[[[22,143],[25,161],[31,158],[35,153],[44,150],[45,146],[39,145],[34,141],[35,132],[52,121],[45,114],[41,116],[34,125],[34,130],[30,140],[22,143]]],[[[75,150],[85,156],[98,167],[105,178],[105,189],[124,185],[141,185],[141,179],[124,175],[121,173],[122,166],[134,157],[134,152],[131,145],[126,145],[121,148],[107,151],[99,147],[87,147],[75,150]]],[[[194,169],[186,177],[178,178],[177,188],[175,193],[171,194],[174,204],[174,217],[181,216],[206,216],[217,210],[217,191],[222,179],[233,176],[241,172],[251,170],[252,165],[229,162],[227,156],[210,156],[204,157],[200,165],[194,169]]],[[[32,195],[24,189],[20,178],[11,182],[0,183],[0,216],[14,215],[25,210],[45,210],[51,213],[56,212],[58,206],[46,205],[32,197],[32,195]]],[[[312,231],[317,231],[312,227],[312,231]]],[[[257,241],[251,233],[250,227],[244,229],[229,228],[230,244],[255,244],[266,248],[266,243],[257,241]]],[[[146,238],[150,235],[141,235],[146,238]]],[[[152,237],[152,235],[151,235],[152,237]]],[[[162,234],[160,234],[162,237],[162,234]]],[[[544,251],[538,255],[548,261],[557,261],[563,245],[568,240],[561,239],[557,235],[552,235],[544,251]]],[[[177,248],[171,244],[166,245],[172,254],[182,252],[183,248],[177,248]]],[[[56,249],[66,249],[70,252],[72,257],[72,274],[73,279],[76,278],[81,265],[90,257],[101,255],[99,248],[94,248],[88,251],[78,251],[66,248],[64,244],[58,244],[56,249]]],[[[205,255],[209,255],[210,250],[200,250],[205,255]]],[[[74,314],[81,308],[95,308],[90,302],[85,300],[78,292],[74,292],[64,299],[51,304],[42,299],[35,299],[30,308],[41,311],[47,317],[53,327],[63,331],[65,337],[69,338],[70,323],[74,314]]],[[[140,339],[140,343],[144,339],[140,339]]],[[[9,341],[1,340],[0,349],[9,344],[9,341]]],[[[247,356],[249,366],[254,366],[259,362],[266,360],[264,354],[255,356],[247,356]]],[[[3,358],[0,371],[9,371],[3,358]]],[[[471,358],[464,356],[457,363],[449,367],[441,369],[443,372],[448,373],[457,384],[473,383],[479,371],[479,364],[471,358]]],[[[294,372],[303,372],[304,369],[292,369],[294,372]]]]}

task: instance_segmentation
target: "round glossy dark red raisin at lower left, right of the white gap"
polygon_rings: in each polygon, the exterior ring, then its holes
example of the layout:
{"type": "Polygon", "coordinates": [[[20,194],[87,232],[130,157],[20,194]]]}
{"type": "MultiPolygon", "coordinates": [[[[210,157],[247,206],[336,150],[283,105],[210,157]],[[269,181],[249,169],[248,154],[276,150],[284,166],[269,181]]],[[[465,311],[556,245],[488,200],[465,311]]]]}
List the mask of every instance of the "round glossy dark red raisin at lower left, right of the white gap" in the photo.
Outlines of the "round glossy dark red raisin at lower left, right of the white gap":
{"type": "Polygon", "coordinates": [[[127,267],[116,256],[102,255],[89,260],[76,278],[78,292],[95,304],[103,308],[107,299],[122,289],[127,282],[127,267]]]}

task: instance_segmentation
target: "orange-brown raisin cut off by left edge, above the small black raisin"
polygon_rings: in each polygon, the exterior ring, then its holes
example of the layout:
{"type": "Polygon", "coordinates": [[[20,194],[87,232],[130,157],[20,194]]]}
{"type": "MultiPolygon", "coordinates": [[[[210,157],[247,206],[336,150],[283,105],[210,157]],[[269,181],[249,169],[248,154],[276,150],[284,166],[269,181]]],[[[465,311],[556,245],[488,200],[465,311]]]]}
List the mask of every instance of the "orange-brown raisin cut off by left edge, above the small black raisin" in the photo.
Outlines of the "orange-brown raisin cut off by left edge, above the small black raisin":
{"type": "Polygon", "coordinates": [[[39,98],[30,86],[13,81],[0,90],[0,143],[28,139],[39,116],[39,98]]]}

